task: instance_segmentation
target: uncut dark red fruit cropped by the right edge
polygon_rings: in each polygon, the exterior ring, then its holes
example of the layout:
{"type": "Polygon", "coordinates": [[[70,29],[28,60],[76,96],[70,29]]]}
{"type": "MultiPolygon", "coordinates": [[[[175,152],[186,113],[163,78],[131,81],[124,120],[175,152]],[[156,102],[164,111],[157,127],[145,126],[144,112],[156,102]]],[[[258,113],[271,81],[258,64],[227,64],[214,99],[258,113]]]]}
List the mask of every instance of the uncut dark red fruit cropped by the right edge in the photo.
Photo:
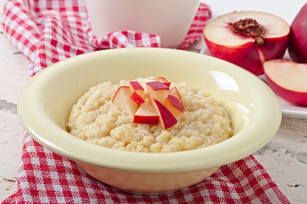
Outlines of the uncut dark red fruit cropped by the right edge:
{"type": "Polygon", "coordinates": [[[298,63],[307,63],[307,3],[290,26],[288,53],[298,63]]]}

